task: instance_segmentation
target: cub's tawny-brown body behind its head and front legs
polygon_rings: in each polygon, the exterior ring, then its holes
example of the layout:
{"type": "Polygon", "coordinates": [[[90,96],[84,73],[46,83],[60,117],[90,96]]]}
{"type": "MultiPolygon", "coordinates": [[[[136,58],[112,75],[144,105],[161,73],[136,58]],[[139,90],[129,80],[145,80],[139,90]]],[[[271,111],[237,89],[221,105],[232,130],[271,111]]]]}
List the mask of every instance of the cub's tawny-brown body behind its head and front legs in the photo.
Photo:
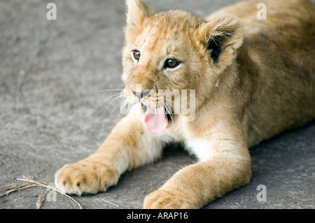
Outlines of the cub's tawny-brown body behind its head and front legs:
{"type": "Polygon", "coordinates": [[[243,1],[208,18],[233,13],[244,23],[244,48],[257,69],[248,71],[255,80],[249,145],[315,118],[315,7],[304,0],[266,0],[266,20],[258,20],[260,2],[243,1]]]}

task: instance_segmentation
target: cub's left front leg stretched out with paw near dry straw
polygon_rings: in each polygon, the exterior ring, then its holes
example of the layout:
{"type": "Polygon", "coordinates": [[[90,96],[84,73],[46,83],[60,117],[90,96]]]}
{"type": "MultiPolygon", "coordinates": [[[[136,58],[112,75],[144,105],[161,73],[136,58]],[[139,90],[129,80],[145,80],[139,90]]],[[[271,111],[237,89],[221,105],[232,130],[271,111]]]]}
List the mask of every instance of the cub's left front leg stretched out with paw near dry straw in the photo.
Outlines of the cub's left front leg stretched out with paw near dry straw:
{"type": "Polygon", "coordinates": [[[123,118],[90,157],[67,164],[55,173],[55,184],[67,194],[95,194],[116,185],[120,175],[158,158],[162,142],[148,133],[136,107],[123,118]]]}

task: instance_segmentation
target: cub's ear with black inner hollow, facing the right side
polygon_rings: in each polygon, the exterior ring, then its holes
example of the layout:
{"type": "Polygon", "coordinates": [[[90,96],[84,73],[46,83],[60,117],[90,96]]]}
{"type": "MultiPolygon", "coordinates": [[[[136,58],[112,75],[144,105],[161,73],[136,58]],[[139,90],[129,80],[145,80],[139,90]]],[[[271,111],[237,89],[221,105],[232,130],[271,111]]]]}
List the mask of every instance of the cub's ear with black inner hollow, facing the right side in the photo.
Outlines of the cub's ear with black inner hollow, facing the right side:
{"type": "Polygon", "coordinates": [[[217,15],[202,24],[199,38],[214,64],[228,66],[244,38],[244,27],[235,15],[217,15]]]}

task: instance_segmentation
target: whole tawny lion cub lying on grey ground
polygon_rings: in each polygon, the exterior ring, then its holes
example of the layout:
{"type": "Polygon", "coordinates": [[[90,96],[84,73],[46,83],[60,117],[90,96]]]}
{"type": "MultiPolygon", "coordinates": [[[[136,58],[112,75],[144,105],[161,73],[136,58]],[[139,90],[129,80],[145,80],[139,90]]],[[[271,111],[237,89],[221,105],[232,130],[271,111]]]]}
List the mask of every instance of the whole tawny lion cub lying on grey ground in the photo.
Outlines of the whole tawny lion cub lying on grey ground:
{"type": "Polygon", "coordinates": [[[249,147],[315,117],[315,8],[265,0],[267,20],[258,20],[258,3],[204,20],[127,0],[123,66],[134,106],[97,152],[57,171],[57,187],[105,191],[172,141],[199,161],[148,194],[144,208],[201,208],[246,185],[249,147]]]}

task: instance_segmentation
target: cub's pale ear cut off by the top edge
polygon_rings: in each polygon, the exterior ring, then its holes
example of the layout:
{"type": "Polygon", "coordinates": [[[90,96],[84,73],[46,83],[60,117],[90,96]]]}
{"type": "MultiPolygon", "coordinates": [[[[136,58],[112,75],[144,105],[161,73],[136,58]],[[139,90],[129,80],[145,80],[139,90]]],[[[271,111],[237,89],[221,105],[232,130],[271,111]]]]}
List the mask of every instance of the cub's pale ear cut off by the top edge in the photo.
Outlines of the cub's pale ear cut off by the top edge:
{"type": "Polygon", "coordinates": [[[126,38],[128,41],[136,38],[143,29],[146,18],[155,14],[155,11],[143,1],[126,0],[127,6],[127,27],[126,38]]]}

